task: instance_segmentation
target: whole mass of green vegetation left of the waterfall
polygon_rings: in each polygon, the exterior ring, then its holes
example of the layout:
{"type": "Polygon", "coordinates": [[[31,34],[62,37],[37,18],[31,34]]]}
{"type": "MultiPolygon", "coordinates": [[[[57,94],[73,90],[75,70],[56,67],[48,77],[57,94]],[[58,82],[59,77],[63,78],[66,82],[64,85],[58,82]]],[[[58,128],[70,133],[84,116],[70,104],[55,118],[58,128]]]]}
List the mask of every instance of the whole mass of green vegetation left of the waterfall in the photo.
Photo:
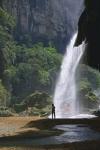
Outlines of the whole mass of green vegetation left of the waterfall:
{"type": "Polygon", "coordinates": [[[14,39],[15,27],[15,18],[0,8],[0,106],[21,113],[32,104],[32,114],[35,110],[44,114],[44,105],[47,111],[51,104],[62,55],[51,44],[19,44],[14,39]]]}

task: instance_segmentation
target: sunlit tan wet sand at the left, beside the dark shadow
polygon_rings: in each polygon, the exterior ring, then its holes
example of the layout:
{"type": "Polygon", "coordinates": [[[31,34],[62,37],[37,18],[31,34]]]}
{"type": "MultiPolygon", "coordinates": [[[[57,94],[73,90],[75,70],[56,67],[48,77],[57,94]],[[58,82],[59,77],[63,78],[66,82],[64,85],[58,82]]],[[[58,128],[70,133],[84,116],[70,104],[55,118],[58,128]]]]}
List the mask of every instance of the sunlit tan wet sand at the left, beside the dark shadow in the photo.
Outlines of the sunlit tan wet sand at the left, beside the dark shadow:
{"type": "MultiPolygon", "coordinates": [[[[15,136],[20,132],[25,130],[30,130],[30,128],[23,128],[30,121],[39,120],[39,117],[0,117],[0,138],[15,136]]],[[[33,131],[38,130],[33,127],[33,131]]]]}

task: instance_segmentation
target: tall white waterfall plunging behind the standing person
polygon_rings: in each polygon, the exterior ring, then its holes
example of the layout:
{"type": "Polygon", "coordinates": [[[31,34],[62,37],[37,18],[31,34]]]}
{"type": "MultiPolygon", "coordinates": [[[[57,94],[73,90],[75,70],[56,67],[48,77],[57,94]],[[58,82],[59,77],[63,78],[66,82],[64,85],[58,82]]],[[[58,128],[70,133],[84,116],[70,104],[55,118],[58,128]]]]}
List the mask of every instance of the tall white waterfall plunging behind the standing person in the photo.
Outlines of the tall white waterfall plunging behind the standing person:
{"type": "Polygon", "coordinates": [[[62,62],[61,71],[57,80],[54,105],[56,106],[56,117],[67,118],[77,114],[77,94],[75,74],[80,59],[85,50],[83,42],[78,47],[74,47],[77,33],[72,37],[62,62]]]}

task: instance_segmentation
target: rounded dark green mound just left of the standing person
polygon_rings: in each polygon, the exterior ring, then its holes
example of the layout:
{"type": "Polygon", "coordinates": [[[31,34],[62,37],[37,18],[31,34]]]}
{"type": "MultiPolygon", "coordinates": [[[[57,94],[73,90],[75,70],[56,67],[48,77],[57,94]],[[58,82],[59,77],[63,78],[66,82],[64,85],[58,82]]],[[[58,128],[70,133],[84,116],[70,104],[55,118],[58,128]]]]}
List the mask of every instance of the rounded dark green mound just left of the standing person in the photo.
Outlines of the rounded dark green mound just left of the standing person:
{"type": "Polygon", "coordinates": [[[51,113],[52,99],[45,92],[34,92],[25,98],[20,104],[14,105],[14,110],[20,115],[46,116],[51,113]]]}

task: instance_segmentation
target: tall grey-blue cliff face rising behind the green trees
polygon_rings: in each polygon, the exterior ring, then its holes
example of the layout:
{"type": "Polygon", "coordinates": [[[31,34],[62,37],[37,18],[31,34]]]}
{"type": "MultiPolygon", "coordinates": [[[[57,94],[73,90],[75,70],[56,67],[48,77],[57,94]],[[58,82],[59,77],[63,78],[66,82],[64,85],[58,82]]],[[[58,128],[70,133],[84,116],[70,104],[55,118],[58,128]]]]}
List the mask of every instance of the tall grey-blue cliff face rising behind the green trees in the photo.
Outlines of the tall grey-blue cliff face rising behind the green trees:
{"type": "Polygon", "coordinates": [[[20,42],[54,43],[64,50],[77,29],[83,0],[1,0],[2,7],[17,19],[16,39],[20,42]]]}

